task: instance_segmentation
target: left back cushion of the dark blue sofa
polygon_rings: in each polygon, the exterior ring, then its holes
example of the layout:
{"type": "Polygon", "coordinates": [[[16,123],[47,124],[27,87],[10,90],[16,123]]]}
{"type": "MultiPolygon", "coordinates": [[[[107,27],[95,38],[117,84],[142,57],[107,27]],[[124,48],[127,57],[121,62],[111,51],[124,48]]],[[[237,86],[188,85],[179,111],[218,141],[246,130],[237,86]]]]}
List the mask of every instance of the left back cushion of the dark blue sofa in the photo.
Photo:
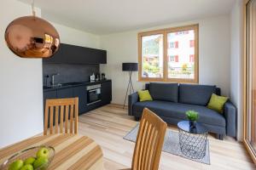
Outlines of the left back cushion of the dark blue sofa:
{"type": "Polygon", "coordinates": [[[151,82],[149,84],[149,93],[154,100],[177,102],[178,84],[151,82]]]}

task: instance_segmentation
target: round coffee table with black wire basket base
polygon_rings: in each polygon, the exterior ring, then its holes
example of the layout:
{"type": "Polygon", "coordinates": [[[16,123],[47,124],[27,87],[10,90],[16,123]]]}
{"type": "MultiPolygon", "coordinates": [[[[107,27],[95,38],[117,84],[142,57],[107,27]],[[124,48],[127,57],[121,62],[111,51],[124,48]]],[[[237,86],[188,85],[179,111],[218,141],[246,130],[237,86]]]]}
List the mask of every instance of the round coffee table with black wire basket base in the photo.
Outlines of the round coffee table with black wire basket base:
{"type": "Polygon", "coordinates": [[[201,159],[206,156],[207,128],[199,122],[189,121],[177,123],[180,150],[184,156],[201,159]]]}

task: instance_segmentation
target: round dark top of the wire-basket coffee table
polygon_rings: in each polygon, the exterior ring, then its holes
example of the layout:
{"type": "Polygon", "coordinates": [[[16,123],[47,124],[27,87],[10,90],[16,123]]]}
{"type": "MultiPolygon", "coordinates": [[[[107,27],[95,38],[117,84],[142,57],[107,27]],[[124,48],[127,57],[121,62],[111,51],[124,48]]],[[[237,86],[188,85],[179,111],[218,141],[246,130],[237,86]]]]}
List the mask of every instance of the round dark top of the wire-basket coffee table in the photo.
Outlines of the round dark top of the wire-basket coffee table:
{"type": "Polygon", "coordinates": [[[182,121],[177,123],[177,127],[188,133],[195,133],[195,134],[207,133],[207,128],[204,125],[202,125],[200,122],[195,122],[195,127],[191,128],[189,125],[189,121],[182,121]]]}

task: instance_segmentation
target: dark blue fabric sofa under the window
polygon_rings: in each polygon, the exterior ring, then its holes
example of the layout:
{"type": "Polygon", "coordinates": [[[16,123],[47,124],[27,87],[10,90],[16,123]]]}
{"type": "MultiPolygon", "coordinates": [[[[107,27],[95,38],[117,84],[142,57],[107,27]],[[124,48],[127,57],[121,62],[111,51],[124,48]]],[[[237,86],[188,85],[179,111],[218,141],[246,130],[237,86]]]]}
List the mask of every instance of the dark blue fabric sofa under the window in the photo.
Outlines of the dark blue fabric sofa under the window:
{"type": "Polygon", "coordinates": [[[177,125],[177,122],[186,120],[185,112],[198,111],[201,122],[208,132],[216,133],[218,139],[224,135],[236,138],[236,107],[230,101],[224,105],[224,113],[220,114],[207,108],[212,94],[220,95],[220,88],[208,85],[157,83],[145,85],[153,101],[139,102],[138,94],[129,95],[128,112],[138,121],[143,109],[147,107],[154,111],[164,121],[177,125]]]}

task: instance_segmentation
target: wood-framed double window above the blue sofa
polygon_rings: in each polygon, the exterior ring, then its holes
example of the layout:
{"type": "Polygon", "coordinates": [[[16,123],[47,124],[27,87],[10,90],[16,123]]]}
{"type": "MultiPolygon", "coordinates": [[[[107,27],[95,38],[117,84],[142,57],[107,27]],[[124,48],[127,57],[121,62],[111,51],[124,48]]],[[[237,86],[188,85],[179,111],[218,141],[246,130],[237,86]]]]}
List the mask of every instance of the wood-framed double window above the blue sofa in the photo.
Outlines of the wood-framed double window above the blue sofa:
{"type": "Polygon", "coordinates": [[[139,80],[198,82],[198,25],[138,34],[139,80]]]}

